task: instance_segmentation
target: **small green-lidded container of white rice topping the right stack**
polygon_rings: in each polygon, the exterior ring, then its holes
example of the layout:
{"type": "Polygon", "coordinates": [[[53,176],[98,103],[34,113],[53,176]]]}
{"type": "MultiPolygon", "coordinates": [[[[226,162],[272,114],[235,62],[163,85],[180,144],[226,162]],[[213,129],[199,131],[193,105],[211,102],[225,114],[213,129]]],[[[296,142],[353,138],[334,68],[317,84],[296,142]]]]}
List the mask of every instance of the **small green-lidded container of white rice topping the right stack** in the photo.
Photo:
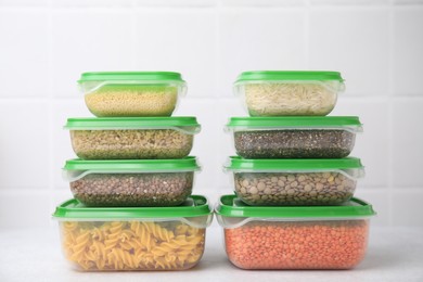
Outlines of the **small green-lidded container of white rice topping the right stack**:
{"type": "Polygon", "coordinates": [[[344,89],[337,72],[245,72],[234,82],[251,116],[325,116],[344,89]]]}

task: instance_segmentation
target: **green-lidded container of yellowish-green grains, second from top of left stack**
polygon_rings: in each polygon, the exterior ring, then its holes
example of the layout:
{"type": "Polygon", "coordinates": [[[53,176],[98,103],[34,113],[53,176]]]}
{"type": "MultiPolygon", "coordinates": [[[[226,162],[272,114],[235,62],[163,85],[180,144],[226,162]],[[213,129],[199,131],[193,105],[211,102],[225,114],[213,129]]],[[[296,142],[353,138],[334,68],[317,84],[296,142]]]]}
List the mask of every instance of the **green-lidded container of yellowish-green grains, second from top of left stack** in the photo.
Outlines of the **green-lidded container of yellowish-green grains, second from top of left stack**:
{"type": "Polygon", "coordinates": [[[84,159],[181,158],[201,130],[195,117],[68,118],[72,146],[84,159]]]}

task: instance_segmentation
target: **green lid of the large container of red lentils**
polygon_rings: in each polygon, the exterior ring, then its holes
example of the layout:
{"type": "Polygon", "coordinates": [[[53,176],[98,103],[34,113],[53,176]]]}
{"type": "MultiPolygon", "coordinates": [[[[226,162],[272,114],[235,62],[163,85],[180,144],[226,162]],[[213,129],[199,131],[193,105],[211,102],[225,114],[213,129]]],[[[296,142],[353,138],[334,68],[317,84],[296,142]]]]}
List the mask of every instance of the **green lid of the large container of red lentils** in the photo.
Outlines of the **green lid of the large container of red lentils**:
{"type": "Polygon", "coordinates": [[[222,195],[216,207],[222,217],[251,218],[357,218],[370,217],[376,213],[372,205],[352,197],[339,206],[248,206],[235,195],[222,195]]]}

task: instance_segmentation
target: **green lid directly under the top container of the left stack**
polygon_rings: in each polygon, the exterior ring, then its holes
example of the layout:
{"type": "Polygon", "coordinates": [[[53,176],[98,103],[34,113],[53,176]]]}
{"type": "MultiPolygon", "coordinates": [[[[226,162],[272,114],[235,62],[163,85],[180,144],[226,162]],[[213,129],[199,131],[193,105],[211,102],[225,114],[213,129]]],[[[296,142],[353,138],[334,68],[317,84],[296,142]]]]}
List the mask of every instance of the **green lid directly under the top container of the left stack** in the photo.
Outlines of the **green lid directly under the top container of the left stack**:
{"type": "Polygon", "coordinates": [[[113,129],[175,129],[189,134],[198,133],[195,117],[76,117],[68,118],[65,129],[113,130],[113,129]]]}

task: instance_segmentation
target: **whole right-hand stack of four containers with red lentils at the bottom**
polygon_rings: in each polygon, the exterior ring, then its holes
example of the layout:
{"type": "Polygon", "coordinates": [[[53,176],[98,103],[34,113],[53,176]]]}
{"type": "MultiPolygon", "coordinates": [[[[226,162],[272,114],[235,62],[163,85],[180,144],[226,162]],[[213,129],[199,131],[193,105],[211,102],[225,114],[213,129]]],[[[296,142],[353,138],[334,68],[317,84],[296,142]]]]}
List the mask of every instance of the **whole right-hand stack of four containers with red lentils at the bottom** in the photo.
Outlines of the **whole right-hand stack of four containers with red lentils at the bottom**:
{"type": "Polygon", "coordinates": [[[230,118],[236,154],[225,168],[235,195],[216,207],[230,261],[243,269],[347,269],[364,256],[372,206],[348,156],[356,116],[326,116],[337,72],[246,72],[234,84],[249,117],[230,118]]]}

